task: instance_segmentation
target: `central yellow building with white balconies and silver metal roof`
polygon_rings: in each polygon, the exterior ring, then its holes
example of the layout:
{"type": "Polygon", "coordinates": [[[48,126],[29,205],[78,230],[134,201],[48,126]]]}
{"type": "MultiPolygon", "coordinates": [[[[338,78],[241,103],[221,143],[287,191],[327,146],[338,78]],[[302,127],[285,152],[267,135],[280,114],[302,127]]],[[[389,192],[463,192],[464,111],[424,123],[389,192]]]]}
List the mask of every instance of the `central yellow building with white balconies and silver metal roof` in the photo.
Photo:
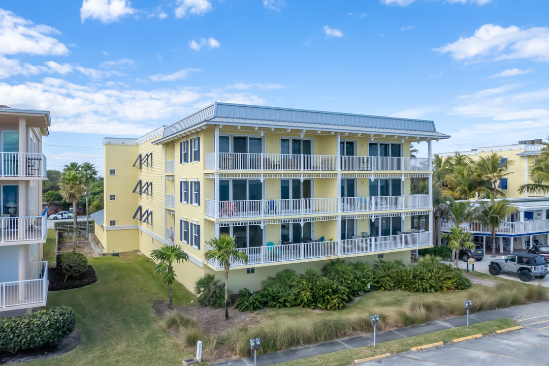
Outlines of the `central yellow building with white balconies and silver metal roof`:
{"type": "Polygon", "coordinates": [[[181,245],[188,289],[222,278],[204,260],[220,233],[249,258],[232,263],[231,291],[336,258],[409,263],[432,245],[432,192],[410,193],[412,178],[431,179],[430,158],[411,158],[410,143],[427,142],[430,156],[448,137],[433,121],[214,103],[141,138],[103,140],[96,235],[106,253],[181,245]]]}

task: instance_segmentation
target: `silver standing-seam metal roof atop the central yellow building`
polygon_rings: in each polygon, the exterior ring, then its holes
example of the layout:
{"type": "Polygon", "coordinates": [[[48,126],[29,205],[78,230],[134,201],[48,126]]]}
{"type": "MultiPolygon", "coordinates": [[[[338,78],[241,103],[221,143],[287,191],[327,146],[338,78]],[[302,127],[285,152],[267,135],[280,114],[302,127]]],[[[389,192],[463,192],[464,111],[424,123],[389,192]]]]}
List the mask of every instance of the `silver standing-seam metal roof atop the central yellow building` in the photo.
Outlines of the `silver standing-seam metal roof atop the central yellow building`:
{"type": "Polygon", "coordinates": [[[351,130],[356,132],[425,136],[433,138],[450,137],[449,135],[436,132],[434,122],[428,120],[216,102],[165,127],[162,138],[157,142],[184,130],[191,129],[201,123],[229,123],[269,127],[284,126],[296,129],[329,129],[332,131],[351,130]]]}

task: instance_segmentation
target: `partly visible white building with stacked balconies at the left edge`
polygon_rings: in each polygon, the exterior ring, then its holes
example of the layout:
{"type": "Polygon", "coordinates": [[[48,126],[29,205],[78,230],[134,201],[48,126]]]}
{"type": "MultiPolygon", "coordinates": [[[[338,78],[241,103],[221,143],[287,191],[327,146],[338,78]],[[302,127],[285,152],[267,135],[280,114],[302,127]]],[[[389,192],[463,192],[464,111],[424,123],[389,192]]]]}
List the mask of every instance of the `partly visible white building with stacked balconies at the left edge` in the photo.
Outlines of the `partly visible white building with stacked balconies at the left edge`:
{"type": "Polygon", "coordinates": [[[50,125],[47,110],[0,106],[0,317],[46,305],[42,138],[50,125]]]}

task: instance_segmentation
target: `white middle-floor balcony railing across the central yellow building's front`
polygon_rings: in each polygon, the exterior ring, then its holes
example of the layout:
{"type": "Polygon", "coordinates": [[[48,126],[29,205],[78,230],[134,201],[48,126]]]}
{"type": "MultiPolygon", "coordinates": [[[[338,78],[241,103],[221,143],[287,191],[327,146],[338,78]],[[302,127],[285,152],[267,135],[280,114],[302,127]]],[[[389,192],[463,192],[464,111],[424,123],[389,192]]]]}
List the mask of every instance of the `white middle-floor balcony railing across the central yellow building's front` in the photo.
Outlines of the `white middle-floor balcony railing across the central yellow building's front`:
{"type": "Polygon", "coordinates": [[[428,195],[254,199],[250,201],[220,201],[219,208],[212,199],[206,199],[206,216],[216,219],[251,218],[293,215],[319,215],[350,212],[377,212],[388,210],[428,209],[428,195]]]}

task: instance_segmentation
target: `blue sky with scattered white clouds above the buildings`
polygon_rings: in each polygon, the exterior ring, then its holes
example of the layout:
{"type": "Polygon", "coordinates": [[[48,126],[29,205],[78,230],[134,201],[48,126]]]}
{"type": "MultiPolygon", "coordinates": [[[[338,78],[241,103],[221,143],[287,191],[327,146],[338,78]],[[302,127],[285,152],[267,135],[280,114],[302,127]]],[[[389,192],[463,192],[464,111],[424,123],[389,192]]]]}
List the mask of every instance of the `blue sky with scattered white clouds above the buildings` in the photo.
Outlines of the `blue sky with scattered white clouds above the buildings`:
{"type": "MultiPolygon", "coordinates": [[[[103,169],[215,101],[434,120],[434,152],[549,135],[549,2],[3,0],[0,104],[48,109],[48,165],[103,169]]],[[[419,147],[425,151],[425,143],[419,147]]]]}

